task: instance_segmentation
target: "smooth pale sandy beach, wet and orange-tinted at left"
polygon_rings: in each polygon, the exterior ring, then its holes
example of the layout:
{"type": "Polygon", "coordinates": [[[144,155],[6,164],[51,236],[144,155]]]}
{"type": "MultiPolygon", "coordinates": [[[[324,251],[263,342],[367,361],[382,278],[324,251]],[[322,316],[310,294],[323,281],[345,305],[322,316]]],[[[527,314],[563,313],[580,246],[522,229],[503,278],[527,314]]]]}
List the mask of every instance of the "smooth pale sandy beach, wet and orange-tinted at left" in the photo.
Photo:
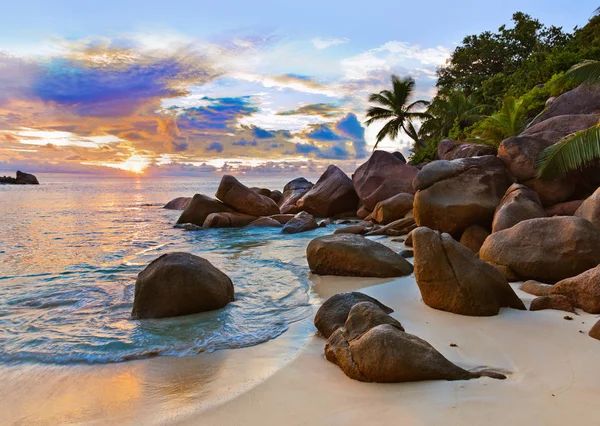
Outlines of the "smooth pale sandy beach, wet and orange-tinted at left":
{"type": "MultiPolygon", "coordinates": [[[[594,315],[512,309],[488,318],[450,314],[424,305],[412,276],[315,277],[314,283],[323,298],[363,289],[392,307],[407,332],[451,361],[467,369],[492,368],[508,378],[356,382],[325,360],[325,342],[307,318],[265,344],[190,358],[3,367],[2,423],[600,424],[600,342],[587,335],[594,315]]],[[[533,298],[517,293],[526,304],[533,298]]]]}

